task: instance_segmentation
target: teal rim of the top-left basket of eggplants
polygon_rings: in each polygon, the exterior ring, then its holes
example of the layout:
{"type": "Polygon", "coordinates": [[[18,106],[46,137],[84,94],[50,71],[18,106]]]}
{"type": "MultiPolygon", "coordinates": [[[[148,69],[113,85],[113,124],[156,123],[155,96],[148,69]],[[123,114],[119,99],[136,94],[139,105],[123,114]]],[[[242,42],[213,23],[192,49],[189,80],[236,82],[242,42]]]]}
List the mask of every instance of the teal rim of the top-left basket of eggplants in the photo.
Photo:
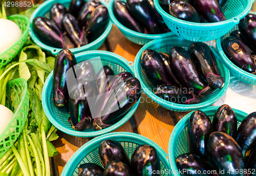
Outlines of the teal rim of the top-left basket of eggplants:
{"type": "MultiPolygon", "coordinates": [[[[37,14],[40,11],[42,11],[45,7],[50,6],[50,4],[52,4],[52,3],[63,4],[65,2],[70,2],[70,1],[71,0],[48,0],[48,1],[45,1],[44,3],[42,3],[39,7],[37,7],[35,9],[35,11],[32,13],[32,15],[30,17],[29,35],[30,35],[31,39],[38,46],[40,46],[41,48],[44,48],[45,50],[51,52],[53,55],[57,55],[62,48],[52,47],[52,46],[49,46],[49,45],[47,45],[45,43],[42,43],[40,41],[40,39],[38,39],[37,35],[35,35],[35,32],[33,30],[33,19],[35,17],[37,17],[37,14]]],[[[100,2],[108,9],[108,11],[110,11],[109,8],[108,8],[108,4],[104,0],[100,0],[100,2]]],[[[70,51],[72,53],[79,53],[81,51],[85,51],[86,49],[89,49],[89,48],[95,46],[96,44],[100,43],[102,40],[104,40],[109,35],[109,33],[110,33],[111,29],[112,29],[112,26],[113,26],[113,22],[111,21],[111,19],[109,19],[109,22],[108,22],[108,24],[106,26],[105,31],[103,32],[103,34],[101,34],[101,36],[99,38],[97,38],[96,40],[94,40],[91,43],[88,43],[87,45],[84,45],[84,46],[81,46],[81,47],[76,47],[76,48],[71,48],[70,51]]]]}

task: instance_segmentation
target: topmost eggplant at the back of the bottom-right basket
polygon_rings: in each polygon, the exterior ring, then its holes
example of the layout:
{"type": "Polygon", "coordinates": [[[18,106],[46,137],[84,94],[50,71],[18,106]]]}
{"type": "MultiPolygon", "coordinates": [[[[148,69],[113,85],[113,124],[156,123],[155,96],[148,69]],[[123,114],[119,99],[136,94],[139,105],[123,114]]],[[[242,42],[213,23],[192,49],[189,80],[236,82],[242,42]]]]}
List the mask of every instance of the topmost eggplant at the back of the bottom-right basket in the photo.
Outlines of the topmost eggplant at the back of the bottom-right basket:
{"type": "Polygon", "coordinates": [[[228,105],[220,106],[215,112],[212,120],[214,131],[226,133],[234,138],[237,133],[237,125],[237,116],[228,105]]]}

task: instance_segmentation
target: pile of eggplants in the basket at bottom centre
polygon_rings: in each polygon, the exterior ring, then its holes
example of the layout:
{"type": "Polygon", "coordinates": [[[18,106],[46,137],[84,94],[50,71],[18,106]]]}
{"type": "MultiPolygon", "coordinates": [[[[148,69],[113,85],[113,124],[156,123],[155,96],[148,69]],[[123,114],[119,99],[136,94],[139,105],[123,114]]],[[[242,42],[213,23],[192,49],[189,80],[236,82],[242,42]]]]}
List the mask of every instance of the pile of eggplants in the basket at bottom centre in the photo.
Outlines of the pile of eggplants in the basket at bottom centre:
{"type": "Polygon", "coordinates": [[[78,176],[154,176],[153,170],[160,170],[157,150],[151,145],[138,146],[132,161],[123,146],[115,140],[102,141],[98,151],[104,169],[94,163],[81,164],[78,176]]]}

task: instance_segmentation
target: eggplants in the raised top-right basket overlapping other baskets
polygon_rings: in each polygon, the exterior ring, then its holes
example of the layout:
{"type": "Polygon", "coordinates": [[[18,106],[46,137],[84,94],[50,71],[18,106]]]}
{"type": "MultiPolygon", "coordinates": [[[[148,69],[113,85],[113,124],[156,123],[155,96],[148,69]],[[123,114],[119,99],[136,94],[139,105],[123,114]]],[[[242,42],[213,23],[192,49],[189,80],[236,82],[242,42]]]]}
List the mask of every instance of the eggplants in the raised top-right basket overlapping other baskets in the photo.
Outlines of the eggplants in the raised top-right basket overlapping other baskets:
{"type": "Polygon", "coordinates": [[[227,0],[160,0],[169,6],[169,14],[190,22],[220,22],[226,20],[227,0]]]}

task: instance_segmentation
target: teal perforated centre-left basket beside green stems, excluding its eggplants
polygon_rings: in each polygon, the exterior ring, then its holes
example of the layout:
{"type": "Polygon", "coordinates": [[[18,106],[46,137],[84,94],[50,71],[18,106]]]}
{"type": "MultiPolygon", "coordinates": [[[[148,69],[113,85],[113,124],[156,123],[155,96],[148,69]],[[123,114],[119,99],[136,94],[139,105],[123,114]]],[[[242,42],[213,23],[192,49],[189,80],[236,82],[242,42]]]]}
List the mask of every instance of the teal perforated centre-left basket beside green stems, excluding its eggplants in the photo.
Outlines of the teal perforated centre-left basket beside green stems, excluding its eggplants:
{"type": "MultiPolygon", "coordinates": [[[[134,74],[132,62],[128,62],[121,56],[111,52],[88,51],[88,52],[76,54],[75,57],[76,57],[77,63],[86,61],[88,59],[100,57],[102,65],[110,66],[115,72],[115,75],[123,71],[128,71],[134,74]]],[[[101,68],[101,63],[99,62],[100,61],[92,61],[92,64],[94,66],[96,73],[101,68]]],[[[79,137],[99,136],[99,135],[109,133],[118,129],[119,127],[121,127],[121,125],[123,125],[127,120],[129,120],[132,117],[137,107],[139,106],[139,102],[140,102],[140,99],[139,99],[138,102],[130,109],[130,111],[120,121],[118,121],[111,127],[108,127],[106,129],[99,130],[99,131],[95,131],[91,127],[90,129],[87,129],[84,132],[80,132],[80,131],[75,131],[71,127],[71,124],[68,122],[68,118],[70,117],[70,114],[68,113],[67,109],[65,107],[57,108],[54,105],[52,101],[52,94],[53,94],[53,71],[49,74],[44,84],[44,87],[42,88],[42,108],[44,109],[48,119],[57,129],[71,136],[79,136],[79,137]]]]}

